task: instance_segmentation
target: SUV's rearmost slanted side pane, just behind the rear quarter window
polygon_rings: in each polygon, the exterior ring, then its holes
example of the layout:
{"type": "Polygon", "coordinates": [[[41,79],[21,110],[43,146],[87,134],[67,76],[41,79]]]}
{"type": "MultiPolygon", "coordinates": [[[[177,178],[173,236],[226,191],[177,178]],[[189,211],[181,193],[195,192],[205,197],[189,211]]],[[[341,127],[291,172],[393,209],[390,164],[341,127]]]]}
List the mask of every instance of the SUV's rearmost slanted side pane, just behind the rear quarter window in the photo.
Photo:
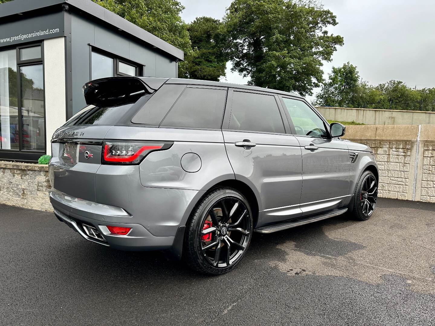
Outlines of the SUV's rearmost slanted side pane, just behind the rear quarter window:
{"type": "Polygon", "coordinates": [[[164,84],[131,119],[132,123],[158,126],[186,85],[164,84]]]}

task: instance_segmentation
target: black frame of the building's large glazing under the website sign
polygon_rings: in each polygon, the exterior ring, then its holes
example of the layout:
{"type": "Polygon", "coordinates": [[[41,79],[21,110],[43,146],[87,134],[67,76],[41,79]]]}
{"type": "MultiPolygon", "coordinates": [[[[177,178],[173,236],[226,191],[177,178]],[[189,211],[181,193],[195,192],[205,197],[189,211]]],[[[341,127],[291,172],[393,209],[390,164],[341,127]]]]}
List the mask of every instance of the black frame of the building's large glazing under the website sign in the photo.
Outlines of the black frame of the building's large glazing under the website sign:
{"type": "Polygon", "coordinates": [[[41,155],[47,153],[47,116],[46,116],[46,103],[45,103],[45,72],[44,72],[44,43],[43,41],[24,43],[14,47],[4,47],[3,51],[15,50],[16,57],[16,71],[17,71],[17,115],[18,115],[18,149],[0,149],[0,158],[4,160],[35,162],[41,155]],[[20,49],[28,47],[41,47],[41,57],[35,59],[21,60],[20,49]],[[36,64],[42,65],[42,78],[43,78],[43,101],[44,101],[44,150],[23,150],[23,116],[21,114],[22,107],[22,89],[21,89],[21,67],[33,66],[36,64]]]}

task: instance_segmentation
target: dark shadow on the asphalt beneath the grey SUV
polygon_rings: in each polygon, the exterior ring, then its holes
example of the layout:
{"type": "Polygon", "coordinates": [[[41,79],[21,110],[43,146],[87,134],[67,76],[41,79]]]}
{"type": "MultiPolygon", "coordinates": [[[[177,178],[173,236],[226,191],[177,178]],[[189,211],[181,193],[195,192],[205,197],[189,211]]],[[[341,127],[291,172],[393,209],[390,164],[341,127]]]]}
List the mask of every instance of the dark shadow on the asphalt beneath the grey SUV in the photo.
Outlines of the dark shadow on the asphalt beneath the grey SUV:
{"type": "MultiPolygon", "coordinates": [[[[270,234],[254,233],[251,246],[240,264],[241,269],[252,267],[253,261],[282,260],[287,254],[278,246],[294,242],[294,248],[308,255],[343,256],[355,250],[364,249],[358,243],[345,240],[335,240],[325,234],[325,230],[348,227],[356,221],[348,220],[345,216],[319,221],[316,223],[299,226],[270,234]]],[[[164,283],[167,279],[183,278],[194,280],[208,278],[188,268],[183,261],[174,261],[162,252],[128,252],[98,246],[83,239],[77,239],[74,250],[69,251],[69,256],[64,260],[65,270],[71,271],[74,267],[74,275],[81,277],[97,272],[108,279],[129,278],[144,283],[164,283]],[[70,266],[68,266],[70,265],[70,266]]],[[[88,276],[86,276],[88,277],[88,276]]]]}

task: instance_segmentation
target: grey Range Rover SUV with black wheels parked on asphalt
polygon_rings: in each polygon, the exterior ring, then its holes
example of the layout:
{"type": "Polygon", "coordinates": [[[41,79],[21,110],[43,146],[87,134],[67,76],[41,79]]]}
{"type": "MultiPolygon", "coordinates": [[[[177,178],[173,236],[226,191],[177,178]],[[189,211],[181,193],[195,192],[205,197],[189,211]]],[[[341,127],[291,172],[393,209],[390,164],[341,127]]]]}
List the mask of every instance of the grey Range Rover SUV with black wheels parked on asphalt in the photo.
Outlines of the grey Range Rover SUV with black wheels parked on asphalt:
{"type": "Polygon", "coordinates": [[[83,93],[88,106],[51,140],[50,200],[89,241],[222,274],[254,232],[375,210],[372,150],[341,140],[345,126],[300,96],[151,77],[93,80],[83,93]]]}

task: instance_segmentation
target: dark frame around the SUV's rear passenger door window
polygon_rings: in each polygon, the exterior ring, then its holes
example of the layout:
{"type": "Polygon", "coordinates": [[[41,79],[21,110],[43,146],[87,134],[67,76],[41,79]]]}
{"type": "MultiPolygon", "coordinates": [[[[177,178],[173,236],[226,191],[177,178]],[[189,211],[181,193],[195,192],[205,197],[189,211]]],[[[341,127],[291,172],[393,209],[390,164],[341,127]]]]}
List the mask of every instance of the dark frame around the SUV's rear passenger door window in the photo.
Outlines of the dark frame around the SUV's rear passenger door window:
{"type": "Polygon", "coordinates": [[[284,119],[283,114],[285,114],[285,112],[283,112],[283,108],[280,105],[280,101],[279,101],[278,95],[276,93],[268,93],[268,92],[262,92],[262,91],[257,91],[257,90],[247,90],[247,89],[243,89],[243,88],[240,88],[240,89],[239,88],[229,88],[228,95],[227,95],[227,103],[225,105],[225,111],[224,111],[224,119],[222,121],[222,128],[221,129],[225,130],[225,131],[236,131],[236,132],[241,132],[241,133],[264,133],[264,134],[270,134],[270,135],[288,135],[288,131],[290,131],[290,127],[289,127],[287,119],[284,119]],[[273,96],[274,100],[276,102],[277,108],[278,108],[278,112],[281,116],[281,122],[282,122],[282,125],[284,127],[284,133],[271,133],[271,132],[256,131],[256,130],[229,129],[234,92],[254,93],[254,94],[260,94],[260,95],[273,96]]]}

